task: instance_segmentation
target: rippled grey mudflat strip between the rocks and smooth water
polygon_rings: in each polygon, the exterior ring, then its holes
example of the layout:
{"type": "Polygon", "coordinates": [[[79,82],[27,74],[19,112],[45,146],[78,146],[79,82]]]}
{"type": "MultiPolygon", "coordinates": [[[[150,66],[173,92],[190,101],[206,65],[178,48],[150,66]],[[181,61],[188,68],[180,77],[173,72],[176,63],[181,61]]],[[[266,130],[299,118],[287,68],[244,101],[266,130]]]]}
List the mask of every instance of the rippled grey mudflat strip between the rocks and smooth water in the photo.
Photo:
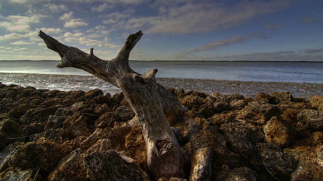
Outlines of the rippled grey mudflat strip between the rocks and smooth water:
{"type": "MultiPolygon", "coordinates": [[[[206,94],[218,92],[220,94],[238,93],[245,98],[254,98],[258,93],[272,94],[274,92],[290,92],[294,97],[309,99],[314,95],[323,95],[322,83],[295,83],[295,82],[259,82],[259,81],[233,81],[210,79],[184,79],[184,78],[157,78],[157,83],[166,88],[183,88],[185,92],[197,91],[206,94]]],[[[26,73],[0,73],[0,82],[3,84],[18,84],[34,86],[36,88],[60,89],[61,91],[90,91],[101,89],[104,93],[112,95],[121,90],[111,83],[105,82],[95,76],[52,75],[52,74],[26,74],[26,73]]]]}

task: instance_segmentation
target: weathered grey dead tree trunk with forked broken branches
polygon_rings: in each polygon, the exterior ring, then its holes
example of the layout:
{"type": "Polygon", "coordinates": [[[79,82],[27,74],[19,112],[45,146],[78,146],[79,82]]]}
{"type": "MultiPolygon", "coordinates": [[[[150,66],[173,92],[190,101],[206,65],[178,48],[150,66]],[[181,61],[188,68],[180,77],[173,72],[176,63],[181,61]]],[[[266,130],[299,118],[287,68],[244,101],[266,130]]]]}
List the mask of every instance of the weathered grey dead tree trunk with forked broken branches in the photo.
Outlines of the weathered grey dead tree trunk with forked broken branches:
{"type": "Polygon", "coordinates": [[[129,67],[130,52],[141,36],[141,31],[131,34],[117,57],[105,61],[93,54],[93,48],[87,54],[39,32],[47,48],[61,56],[58,67],[79,68],[121,88],[141,125],[148,166],[155,177],[183,177],[184,154],[170,127],[182,115],[183,108],[173,94],[156,83],[157,69],[140,75],[129,67]]]}

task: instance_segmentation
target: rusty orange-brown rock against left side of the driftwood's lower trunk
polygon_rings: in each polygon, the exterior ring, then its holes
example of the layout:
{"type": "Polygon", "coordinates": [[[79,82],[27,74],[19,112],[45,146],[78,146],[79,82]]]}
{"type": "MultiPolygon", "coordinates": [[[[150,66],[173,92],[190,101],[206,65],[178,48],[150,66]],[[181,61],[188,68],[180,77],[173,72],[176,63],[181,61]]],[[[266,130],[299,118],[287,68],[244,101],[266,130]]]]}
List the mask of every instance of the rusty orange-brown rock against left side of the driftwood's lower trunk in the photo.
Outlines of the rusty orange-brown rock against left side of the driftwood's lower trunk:
{"type": "Polygon", "coordinates": [[[139,123],[132,126],[132,130],[125,136],[127,154],[136,160],[142,168],[147,168],[147,150],[139,123]]]}

